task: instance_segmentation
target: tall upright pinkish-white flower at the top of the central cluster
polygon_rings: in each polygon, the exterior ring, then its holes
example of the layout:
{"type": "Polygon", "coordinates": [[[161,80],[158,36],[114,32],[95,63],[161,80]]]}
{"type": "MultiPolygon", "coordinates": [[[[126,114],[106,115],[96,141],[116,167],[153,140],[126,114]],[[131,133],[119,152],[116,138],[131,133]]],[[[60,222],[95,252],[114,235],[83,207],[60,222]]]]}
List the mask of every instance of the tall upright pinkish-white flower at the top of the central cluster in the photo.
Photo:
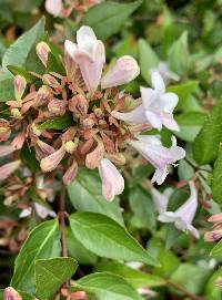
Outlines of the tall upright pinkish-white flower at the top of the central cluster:
{"type": "Polygon", "coordinates": [[[97,39],[90,27],[81,27],[77,32],[77,44],[67,40],[64,48],[79,64],[88,90],[94,92],[100,83],[105,62],[103,43],[97,39]]]}

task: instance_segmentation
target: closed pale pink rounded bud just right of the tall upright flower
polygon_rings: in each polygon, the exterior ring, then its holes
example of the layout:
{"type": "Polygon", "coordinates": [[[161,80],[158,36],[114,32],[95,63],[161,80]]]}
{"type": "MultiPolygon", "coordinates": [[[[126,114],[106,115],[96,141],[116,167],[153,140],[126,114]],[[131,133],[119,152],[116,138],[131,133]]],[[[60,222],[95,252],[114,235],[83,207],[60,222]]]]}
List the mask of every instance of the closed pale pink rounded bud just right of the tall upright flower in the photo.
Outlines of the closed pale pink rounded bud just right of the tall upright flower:
{"type": "Polygon", "coordinates": [[[101,87],[108,89],[129,83],[134,80],[140,73],[140,68],[137,61],[131,56],[122,56],[117,60],[111,70],[104,74],[101,80],[101,87]]]}

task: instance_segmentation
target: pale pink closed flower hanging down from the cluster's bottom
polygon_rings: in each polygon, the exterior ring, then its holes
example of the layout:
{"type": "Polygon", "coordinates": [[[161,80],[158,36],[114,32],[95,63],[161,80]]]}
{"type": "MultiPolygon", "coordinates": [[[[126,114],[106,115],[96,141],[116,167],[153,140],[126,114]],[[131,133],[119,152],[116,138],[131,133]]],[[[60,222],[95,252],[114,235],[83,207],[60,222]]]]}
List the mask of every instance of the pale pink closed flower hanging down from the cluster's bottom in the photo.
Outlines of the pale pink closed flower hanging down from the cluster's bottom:
{"type": "Polygon", "coordinates": [[[102,195],[108,201],[112,201],[115,195],[123,192],[124,179],[108,158],[103,158],[98,168],[102,179],[102,195]]]}

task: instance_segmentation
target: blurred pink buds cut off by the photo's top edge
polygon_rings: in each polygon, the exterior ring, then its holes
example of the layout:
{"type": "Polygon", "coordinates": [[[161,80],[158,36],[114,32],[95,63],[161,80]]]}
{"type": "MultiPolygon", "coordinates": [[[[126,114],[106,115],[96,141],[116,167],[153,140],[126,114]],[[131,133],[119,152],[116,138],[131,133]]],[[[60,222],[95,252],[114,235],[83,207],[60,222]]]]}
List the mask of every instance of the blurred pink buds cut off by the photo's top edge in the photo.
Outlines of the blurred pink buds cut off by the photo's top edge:
{"type": "Polygon", "coordinates": [[[72,11],[83,13],[100,2],[100,0],[47,0],[46,10],[54,18],[68,18],[72,11]]]}

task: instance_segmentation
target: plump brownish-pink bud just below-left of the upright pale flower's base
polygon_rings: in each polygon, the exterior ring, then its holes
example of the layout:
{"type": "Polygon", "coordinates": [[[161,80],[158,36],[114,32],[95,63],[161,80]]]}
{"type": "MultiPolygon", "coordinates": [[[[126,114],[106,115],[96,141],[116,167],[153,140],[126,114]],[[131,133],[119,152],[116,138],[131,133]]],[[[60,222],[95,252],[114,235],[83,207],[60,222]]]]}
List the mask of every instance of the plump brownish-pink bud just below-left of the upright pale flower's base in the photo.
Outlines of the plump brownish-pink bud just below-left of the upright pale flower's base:
{"type": "Polygon", "coordinates": [[[69,110],[78,117],[84,116],[88,112],[89,103],[83,95],[75,95],[69,100],[69,110]]]}

